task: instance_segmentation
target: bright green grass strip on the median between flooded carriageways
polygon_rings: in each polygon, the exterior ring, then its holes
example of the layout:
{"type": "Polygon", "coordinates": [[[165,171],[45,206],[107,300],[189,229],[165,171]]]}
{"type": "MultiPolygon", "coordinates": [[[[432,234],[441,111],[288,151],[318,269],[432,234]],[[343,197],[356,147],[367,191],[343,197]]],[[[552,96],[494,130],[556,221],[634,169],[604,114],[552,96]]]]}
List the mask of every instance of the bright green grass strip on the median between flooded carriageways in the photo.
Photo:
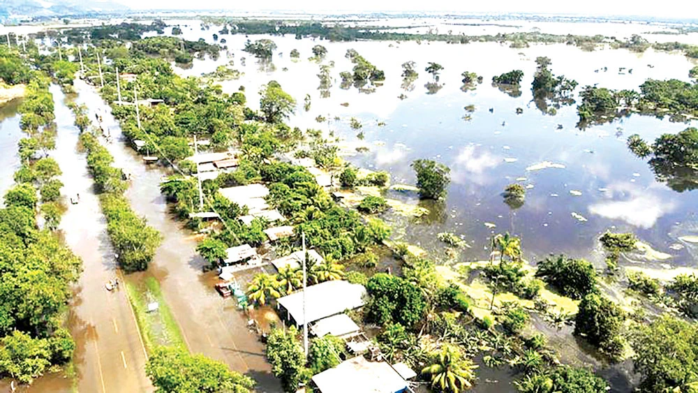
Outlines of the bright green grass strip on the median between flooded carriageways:
{"type": "Polygon", "coordinates": [[[124,281],[128,301],[133,306],[143,344],[148,352],[155,346],[174,346],[186,350],[184,336],[163,298],[160,283],[153,277],[142,281],[126,277],[124,281]],[[149,313],[148,304],[151,302],[158,302],[158,310],[149,313]]]}

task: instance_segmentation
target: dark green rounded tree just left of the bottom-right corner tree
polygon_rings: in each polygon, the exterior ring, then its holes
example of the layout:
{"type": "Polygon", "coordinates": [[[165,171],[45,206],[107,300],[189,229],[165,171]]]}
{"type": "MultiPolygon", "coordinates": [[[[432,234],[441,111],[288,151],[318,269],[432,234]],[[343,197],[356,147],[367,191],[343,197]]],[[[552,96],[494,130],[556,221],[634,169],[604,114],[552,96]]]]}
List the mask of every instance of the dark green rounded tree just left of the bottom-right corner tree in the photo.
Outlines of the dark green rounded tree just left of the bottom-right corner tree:
{"type": "Polygon", "coordinates": [[[590,293],[579,303],[574,320],[574,334],[583,335],[591,345],[611,357],[623,352],[620,332],[625,313],[620,306],[606,297],[590,293]]]}

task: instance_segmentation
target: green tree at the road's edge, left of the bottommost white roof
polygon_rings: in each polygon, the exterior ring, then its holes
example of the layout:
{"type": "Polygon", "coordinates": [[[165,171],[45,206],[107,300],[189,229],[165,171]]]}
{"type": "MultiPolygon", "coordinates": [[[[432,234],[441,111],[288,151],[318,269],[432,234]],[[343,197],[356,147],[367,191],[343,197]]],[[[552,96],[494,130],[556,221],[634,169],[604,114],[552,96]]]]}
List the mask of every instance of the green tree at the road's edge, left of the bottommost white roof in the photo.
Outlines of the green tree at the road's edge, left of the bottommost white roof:
{"type": "Polygon", "coordinates": [[[297,335],[295,327],[273,328],[267,337],[267,359],[272,364],[272,373],[281,379],[283,390],[289,393],[296,392],[309,377],[297,335]]]}

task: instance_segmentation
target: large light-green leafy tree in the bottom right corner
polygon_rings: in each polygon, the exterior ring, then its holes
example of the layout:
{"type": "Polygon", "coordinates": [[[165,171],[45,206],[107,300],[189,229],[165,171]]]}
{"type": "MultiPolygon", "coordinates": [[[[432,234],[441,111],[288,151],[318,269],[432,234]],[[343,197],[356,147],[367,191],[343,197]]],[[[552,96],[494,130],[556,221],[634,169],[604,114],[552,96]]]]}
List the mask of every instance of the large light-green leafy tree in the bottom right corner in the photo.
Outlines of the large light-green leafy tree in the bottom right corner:
{"type": "Polygon", "coordinates": [[[695,325],[664,315],[649,325],[638,325],[630,341],[635,353],[635,372],[642,376],[642,392],[695,392],[698,387],[695,325]]]}

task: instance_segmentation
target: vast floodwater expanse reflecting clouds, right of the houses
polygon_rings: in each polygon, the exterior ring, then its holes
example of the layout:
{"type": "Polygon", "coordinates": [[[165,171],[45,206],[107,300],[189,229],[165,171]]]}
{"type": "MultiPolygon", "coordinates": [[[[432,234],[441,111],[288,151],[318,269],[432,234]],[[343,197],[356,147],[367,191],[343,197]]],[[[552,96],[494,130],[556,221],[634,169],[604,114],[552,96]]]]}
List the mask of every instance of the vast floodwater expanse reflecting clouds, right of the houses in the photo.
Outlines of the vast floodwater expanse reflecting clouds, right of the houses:
{"type": "MultiPolygon", "coordinates": [[[[202,37],[209,43],[220,29],[211,27],[204,32],[198,22],[180,23],[191,26],[183,29],[185,38],[202,37]]],[[[288,121],[290,126],[331,132],[341,138],[347,151],[367,147],[369,151],[354,151],[346,159],[362,168],[387,170],[393,184],[415,184],[410,163],[416,158],[431,158],[451,168],[452,183],[443,202],[420,202],[417,195],[387,192],[390,198],[429,208],[428,216],[415,219],[383,214],[394,225],[394,237],[422,246],[438,262],[485,259],[489,237],[509,231],[521,237],[527,260],[566,253],[603,267],[604,255],[597,238],[614,230],[632,231],[654,249],[671,255],[668,260],[643,262],[647,267],[694,264],[695,250],[679,237],[698,234],[698,191],[674,190],[656,180],[648,163],[628,151],[625,140],[638,133],[653,141],[662,133],[676,133],[697,122],[672,123],[634,114],[579,129],[576,105],[547,114],[536,107],[530,91],[538,56],[551,59],[554,74],[579,82],[574,94],[577,98],[588,84],[638,89],[648,78],[688,80],[688,70],[696,63],[681,54],[610,49],[584,52],[567,45],[512,49],[497,43],[330,43],[292,36],[219,36],[227,40],[227,53],[221,52],[216,60],[195,59],[193,66],[175,70],[181,75],[201,75],[232,61],[232,68],[243,75],[239,80],[221,82],[221,86],[230,93],[244,86],[248,105],[253,108],[258,107],[260,87],[270,80],[278,81],[298,103],[288,121]],[[242,52],[246,39],[260,38],[270,38],[278,46],[273,66],[242,52]],[[333,86],[327,91],[318,89],[320,66],[308,59],[316,44],[329,51],[322,64],[334,61],[333,86]],[[385,71],[383,85],[340,87],[339,73],[352,68],[344,57],[350,48],[385,71]],[[290,59],[292,49],[299,50],[300,59],[290,59]],[[403,85],[401,64],[405,61],[417,63],[419,78],[403,85]],[[426,88],[434,82],[424,72],[429,61],[444,66],[436,91],[426,88]],[[488,82],[493,75],[512,69],[525,74],[520,96],[509,96],[488,82]],[[474,90],[462,91],[463,71],[482,75],[484,82],[474,90]],[[309,111],[303,107],[306,94],[311,97],[309,111]],[[399,98],[401,94],[406,98],[399,98]],[[467,105],[475,105],[474,112],[466,112],[467,105]],[[517,107],[522,114],[516,113],[517,107]],[[470,119],[464,119],[466,114],[470,119]],[[327,121],[318,123],[318,115],[327,121]],[[361,121],[362,135],[350,128],[352,117],[361,121]],[[379,126],[381,122],[385,126],[379,126]],[[526,202],[518,209],[506,205],[501,195],[505,186],[514,182],[527,188],[526,202]],[[455,258],[446,255],[445,245],[436,239],[438,232],[445,231],[461,235],[470,248],[455,258]]],[[[621,265],[630,263],[623,260],[621,265]]],[[[630,371],[631,362],[605,364],[591,348],[574,339],[570,329],[544,329],[540,321],[535,326],[545,332],[566,362],[593,366],[609,380],[612,392],[628,392],[637,383],[637,376],[630,371]]],[[[514,377],[508,370],[482,367],[479,375],[477,392],[514,391],[514,377]],[[500,383],[491,383],[493,380],[500,383]]]]}

